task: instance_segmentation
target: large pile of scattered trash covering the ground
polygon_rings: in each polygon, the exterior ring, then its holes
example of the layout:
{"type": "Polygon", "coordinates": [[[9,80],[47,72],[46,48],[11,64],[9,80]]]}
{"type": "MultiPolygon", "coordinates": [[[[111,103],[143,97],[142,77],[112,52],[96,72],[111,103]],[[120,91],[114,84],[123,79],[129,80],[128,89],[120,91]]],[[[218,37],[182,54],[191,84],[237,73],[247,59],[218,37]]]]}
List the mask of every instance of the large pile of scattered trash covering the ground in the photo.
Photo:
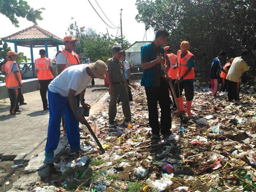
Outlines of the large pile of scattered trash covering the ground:
{"type": "Polygon", "coordinates": [[[181,122],[172,114],[173,134],[156,141],[149,139],[144,88],[138,85],[132,93],[132,122],[123,123],[120,103],[118,126],[109,128],[108,101],[88,120],[106,153],[82,125],[81,146],[88,152],[63,156],[34,191],[256,191],[253,89],[236,105],[226,93],[211,97],[195,82],[193,117],[181,122]]]}

